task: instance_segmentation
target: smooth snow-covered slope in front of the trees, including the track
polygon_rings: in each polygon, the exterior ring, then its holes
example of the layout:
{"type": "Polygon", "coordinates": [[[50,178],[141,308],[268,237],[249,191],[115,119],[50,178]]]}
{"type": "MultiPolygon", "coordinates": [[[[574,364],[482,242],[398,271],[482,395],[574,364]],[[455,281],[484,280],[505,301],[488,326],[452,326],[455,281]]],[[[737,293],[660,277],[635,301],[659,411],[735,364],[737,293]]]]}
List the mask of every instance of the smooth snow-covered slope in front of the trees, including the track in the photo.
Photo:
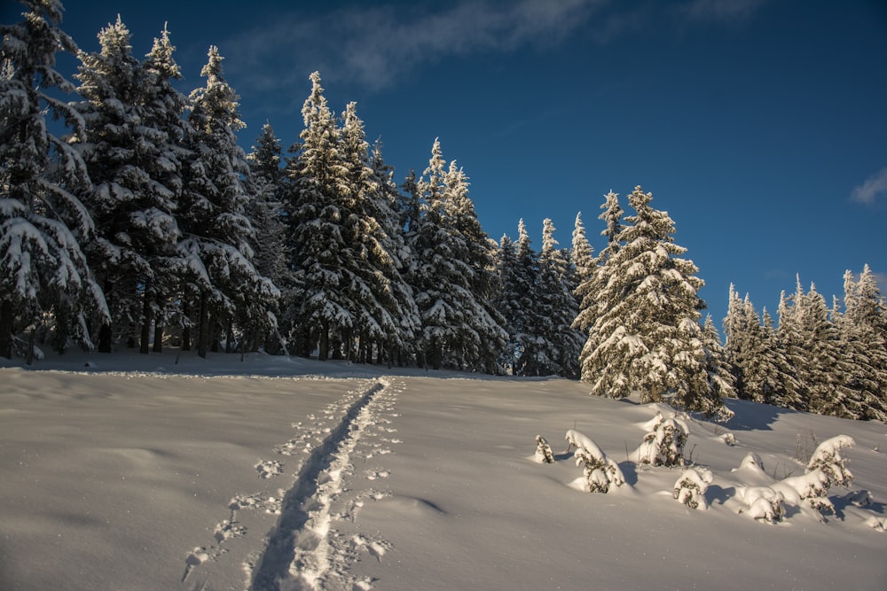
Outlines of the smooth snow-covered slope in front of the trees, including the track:
{"type": "Polygon", "coordinates": [[[628,459],[659,407],[586,392],[262,355],[7,363],[0,588],[887,588],[883,424],[742,401],[726,426],[691,417],[687,456],[713,475],[694,510],[682,470],[628,459]],[[580,489],[570,429],[624,486],[580,489]],[[803,475],[795,456],[839,434],[856,481],[829,492],[836,515],[751,517],[747,486],[803,475]],[[763,470],[740,469],[750,452],[763,470]]]}

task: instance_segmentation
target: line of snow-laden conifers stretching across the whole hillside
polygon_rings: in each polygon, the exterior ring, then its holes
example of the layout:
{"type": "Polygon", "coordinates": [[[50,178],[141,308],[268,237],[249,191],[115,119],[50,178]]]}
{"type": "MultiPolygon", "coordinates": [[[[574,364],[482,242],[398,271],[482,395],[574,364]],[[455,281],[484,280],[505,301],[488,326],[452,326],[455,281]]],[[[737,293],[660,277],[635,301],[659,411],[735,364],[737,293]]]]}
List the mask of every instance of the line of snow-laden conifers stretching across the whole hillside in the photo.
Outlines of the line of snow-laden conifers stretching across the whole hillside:
{"type": "Polygon", "coordinates": [[[59,29],[58,0],[21,4],[26,19],[0,26],[0,356],[33,354],[37,342],[59,352],[264,350],[560,375],[598,395],[640,391],[721,419],[736,395],[885,418],[887,362],[867,351],[883,354],[887,315],[868,280],[847,284],[840,314],[835,304],[822,316],[814,292],[799,289],[771,340],[769,321],[756,324],[750,303],[741,313],[731,291],[721,346],[710,317],[701,322],[698,268],[640,187],[632,215],[605,196],[596,256],[580,214],[569,248],[550,220],[538,252],[522,220],[516,240],[497,243],[439,141],[422,174],[398,186],[357,105],[334,113],[318,73],[300,141],[285,152],[266,124],[247,154],[216,47],[205,86],[184,96],[166,30],[139,60],[118,17],[86,53],[59,29]],[[80,59],[77,85],[54,69],[56,51],[80,59]],[[48,116],[69,134],[53,136],[48,116]],[[863,308],[880,320],[860,321],[863,308]],[[813,323],[820,316],[828,330],[813,323]],[[861,324],[872,328],[854,332],[861,324]],[[820,361],[802,364],[814,345],[820,361]],[[753,350],[783,352],[773,362],[782,373],[757,368],[753,350]],[[821,377],[832,359],[841,363],[821,377]]]}

